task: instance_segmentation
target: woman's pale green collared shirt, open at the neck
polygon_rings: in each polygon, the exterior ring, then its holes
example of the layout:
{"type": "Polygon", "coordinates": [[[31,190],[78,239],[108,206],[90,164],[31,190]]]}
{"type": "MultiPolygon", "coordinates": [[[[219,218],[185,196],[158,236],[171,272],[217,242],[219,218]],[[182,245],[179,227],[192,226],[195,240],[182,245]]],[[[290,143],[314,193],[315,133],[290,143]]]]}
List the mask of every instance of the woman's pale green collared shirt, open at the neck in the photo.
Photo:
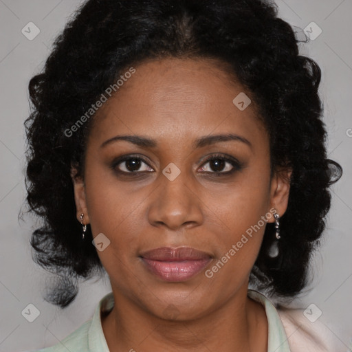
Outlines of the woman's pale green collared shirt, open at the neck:
{"type": "MultiPolygon", "coordinates": [[[[274,305],[265,296],[254,290],[248,290],[248,296],[261,303],[265,308],[269,329],[267,352],[291,352],[283,323],[274,305]]],[[[55,346],[36,352],[109,352],[102,331],[100,311],[110,311],[113,304],[113,294],[110,292],[100,300],[93,318],[55,346]]]]}

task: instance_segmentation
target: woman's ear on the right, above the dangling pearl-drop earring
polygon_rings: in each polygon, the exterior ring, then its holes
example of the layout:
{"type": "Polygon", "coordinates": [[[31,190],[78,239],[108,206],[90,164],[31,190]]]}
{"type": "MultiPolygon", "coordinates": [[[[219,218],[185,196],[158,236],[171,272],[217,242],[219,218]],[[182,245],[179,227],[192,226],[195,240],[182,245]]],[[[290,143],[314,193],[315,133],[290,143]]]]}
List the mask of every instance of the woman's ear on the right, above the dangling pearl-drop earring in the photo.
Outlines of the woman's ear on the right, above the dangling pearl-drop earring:
{"type": "MultiPolygon", "coordinates": [[[[270,205],[280,215],[285,214],[289,201],[289,186],[291,181],[292,169],[283,168],[276,170],[270,185],[270,205]]],[[[274,222],[274,217],[270,217],[268,222],[274,222]]]]}

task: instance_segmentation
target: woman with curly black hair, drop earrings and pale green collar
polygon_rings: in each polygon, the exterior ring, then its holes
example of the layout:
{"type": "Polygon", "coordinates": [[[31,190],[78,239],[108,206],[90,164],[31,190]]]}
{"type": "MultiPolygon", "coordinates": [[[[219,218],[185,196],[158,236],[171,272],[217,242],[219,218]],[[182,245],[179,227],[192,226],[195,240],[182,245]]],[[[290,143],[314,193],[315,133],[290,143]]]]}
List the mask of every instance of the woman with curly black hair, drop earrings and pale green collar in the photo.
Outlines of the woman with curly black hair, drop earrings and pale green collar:
{"type": "Polygon", "coordinates": [[[31,244],[50,302],[112,292],[41,351],[337,351],[263,295],[307,285],[342,173],[319,83],[274,4],[83,4],[30,81],[31,244]]]}

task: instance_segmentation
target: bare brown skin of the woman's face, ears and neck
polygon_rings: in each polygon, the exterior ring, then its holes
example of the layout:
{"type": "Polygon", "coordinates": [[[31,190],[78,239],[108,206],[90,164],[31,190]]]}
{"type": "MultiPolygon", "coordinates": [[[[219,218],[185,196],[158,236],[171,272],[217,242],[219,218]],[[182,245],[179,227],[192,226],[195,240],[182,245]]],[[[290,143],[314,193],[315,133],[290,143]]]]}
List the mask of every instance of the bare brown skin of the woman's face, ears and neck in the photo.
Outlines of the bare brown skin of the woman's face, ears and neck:
{"type": "MultiPolygon", "coordinates": [[[[247,296],[265,225],[212,278],[203,270],[186,282],[168,283],[148,272],[139,254],[190,246],[214,257],[208,270],[271,208],[285,213],[290,171],[270,178],[269,138],[254,102],[244,111],[232,103],[239,93],[250,97],[250,92],[219,63],[164,58],[135,69],[95,117],[85,179],[74,177],[72,169],[78,221],[83,213],[93,236],[103,233],[111,241],[98,252],[117,303],[102,318],[109,349],[267,351],[265,310],[247,296]],[[226,133],[251,145],[238,140],[192,145],[199,137],[226,133]],[[101,146],[116,135],[144,135],[157,146],[124,140],[101,146]],[[217,153],[243,167],[215,176],[216,165],[208,159],[217,153]],[[131,154],[148,162],[137,168],[139,176],[116,173],[131,174],[126,162],[115,170],[111,166],[131,154]],[[162,173],[170,162],[181,171],[173,181],[162,173]],[[170,305],[177,307],[174,318],[166,314],[170,305]]],[[[225,162],[218,170],[232,168],[225,162]]]]}

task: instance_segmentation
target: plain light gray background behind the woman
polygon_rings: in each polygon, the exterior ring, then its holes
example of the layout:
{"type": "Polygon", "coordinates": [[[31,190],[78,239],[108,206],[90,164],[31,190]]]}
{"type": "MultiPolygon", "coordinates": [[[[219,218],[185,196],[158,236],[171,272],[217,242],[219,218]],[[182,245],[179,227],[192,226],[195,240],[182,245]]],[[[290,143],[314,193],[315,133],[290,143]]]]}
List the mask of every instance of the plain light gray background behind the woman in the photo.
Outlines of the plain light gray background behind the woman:
{"type": "MultiPolygon", "coordinates": [[[[0,351],[30,351],[56,344],[91,318],[96,304],[110,292],[106,278],[84,283],[69,309],[46,303],[41,292],[48,275],[31,259],[30,231],[35,220],[18,214],[25,199],[23,121],[28,117],[28,82],[43,67],[53,39],[77,0],[0,0],[0,351]],[[34,22],[40,34],[29,41],[22,28],[34,22]],[[21,311],[32,303],[40,311],[28,322],[21,311]]],[[[314,289],[306,290],[293,307],[314,303],[324,322],[340,340],[341,351],[352,337],[352,1],[278,0],[283,19],[299,28],[314,21],[322,34],[302,45],[320,65],[320,94],[329,130],[329,157],[340,162],[344,176],[333,186],[333,202],[324,245],[314,256],[314,289]],[[338,327],[340,325],[340,328],[338,327]]],[[[316,33],[316,32],[314,32],[316,33]]],[[[299,102],[297,102],[299,104],[299,102]]]]}

